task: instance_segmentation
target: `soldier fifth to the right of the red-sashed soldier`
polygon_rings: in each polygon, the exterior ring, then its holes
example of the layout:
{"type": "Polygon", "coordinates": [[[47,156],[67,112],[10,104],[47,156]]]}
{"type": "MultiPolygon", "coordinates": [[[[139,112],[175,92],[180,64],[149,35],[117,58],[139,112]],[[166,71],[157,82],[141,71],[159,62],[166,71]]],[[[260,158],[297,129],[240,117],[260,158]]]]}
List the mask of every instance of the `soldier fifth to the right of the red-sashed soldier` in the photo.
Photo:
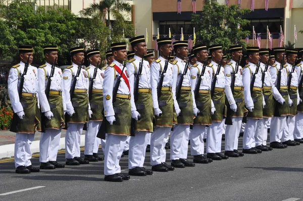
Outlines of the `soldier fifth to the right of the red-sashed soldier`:
{"type": "MultiPolygon", "coordinates": [[[[223,117],[226,116],[225,110],[225,75],[224,67],[221,66],[218,75],[216,75],[220,62],[222,62],[223,52],[222,45],[215,44],[209,46],[210,55],[212,56],[213,75],[217,76],[214,95],[212,97],[216,108],[216,113],[212,115],[212,124],[207,129],[206,152],[207,157],[213,160],[228,159],[228,156],[221,154],[221,140],[223,133],[223,117]]],[[[213,77],[214,77],[213,76],[213,77]]],[[[212,84],[214,79],[212,79],[212,84]]]]}

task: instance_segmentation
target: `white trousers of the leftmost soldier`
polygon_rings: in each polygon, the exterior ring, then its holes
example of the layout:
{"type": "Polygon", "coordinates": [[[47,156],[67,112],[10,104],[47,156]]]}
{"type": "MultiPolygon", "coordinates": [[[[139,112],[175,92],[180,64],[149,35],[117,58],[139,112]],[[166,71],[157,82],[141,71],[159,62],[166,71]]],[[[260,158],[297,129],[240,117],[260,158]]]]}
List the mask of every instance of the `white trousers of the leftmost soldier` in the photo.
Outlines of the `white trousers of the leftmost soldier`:
{"type": "Polygon", "coordinates": [[[32,153],[30,145],[35,137],[34,133],[16,133],[15,138],[15,167],[30,166],[32,153]]]}

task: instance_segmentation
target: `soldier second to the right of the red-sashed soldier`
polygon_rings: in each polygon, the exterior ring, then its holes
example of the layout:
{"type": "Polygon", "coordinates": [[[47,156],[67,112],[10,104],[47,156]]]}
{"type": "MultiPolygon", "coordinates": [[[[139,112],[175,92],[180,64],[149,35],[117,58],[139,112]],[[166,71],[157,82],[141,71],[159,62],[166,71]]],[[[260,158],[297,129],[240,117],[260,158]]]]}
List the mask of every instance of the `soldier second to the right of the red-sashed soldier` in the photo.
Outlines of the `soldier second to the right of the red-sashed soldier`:
{"type": "MultiPolygon", "coordinates": [[[[160,57],[150,66],[151,96],[156,116],[156,128],[150,138],[150,164],[153,171],[167,172],[174,170],[174,167],[165,163],[166,139],[173,126],[173,93],[172,86],[177,82],[177,74],[173,73],[173,65],[168,62],[167,71],[164,74],[161,88],[161,97],[158,97],[157,88],[165,64],[172,51],[171,38],[157,39],[160,57]]],[[[176,107],[176,106],[175,106],[176,107]]]]}

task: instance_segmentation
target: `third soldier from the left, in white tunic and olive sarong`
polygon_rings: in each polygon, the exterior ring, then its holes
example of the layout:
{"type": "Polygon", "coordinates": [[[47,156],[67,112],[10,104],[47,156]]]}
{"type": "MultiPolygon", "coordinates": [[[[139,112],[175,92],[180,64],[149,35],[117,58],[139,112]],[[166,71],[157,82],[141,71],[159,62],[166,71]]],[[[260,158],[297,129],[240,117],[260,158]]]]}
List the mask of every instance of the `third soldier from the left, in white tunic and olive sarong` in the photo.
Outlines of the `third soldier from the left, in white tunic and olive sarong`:
{"type": "Polygon", "coordinates": [[[85,66],[80,66],[84,59],[83,47],[73,47],[70,49],[73,65],[63,70],[63,84],[66,102],[65,120],[67,131],[65,137],[65,158],[66,165],[88,164],[87,160],[80,157],[80,137],[83,126],[92,116],[88,102],[88,72],[85,66]],[[80,68],[80,69],[78,69],[80,68]],[[80,71],[77,76],[78,70],[80,71]],[[72,84],[76,79],[75,89],[72,84]]]}

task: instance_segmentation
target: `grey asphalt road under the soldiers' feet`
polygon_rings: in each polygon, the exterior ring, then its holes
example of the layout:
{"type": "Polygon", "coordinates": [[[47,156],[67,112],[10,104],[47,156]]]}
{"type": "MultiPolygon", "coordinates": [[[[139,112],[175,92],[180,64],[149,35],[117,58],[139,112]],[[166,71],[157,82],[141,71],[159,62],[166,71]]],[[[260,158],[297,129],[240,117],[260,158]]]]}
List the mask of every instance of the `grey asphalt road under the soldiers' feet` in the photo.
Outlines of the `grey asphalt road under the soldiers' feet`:
{"type": "MultiPolygon", "coordinates": [[[[0,163],[0,200],[297,200],[303,198],[302,151],[303,144],[118,183],[104,181],[103,162],[27,175],[6,162],[0,163]],[[27,188],[34,189],[3,195],[27,188]]],[[[123,172],[127,160],[121,159],[123,172]]],[[[64,162],[64,154],[58,161],[64,162]]],[[[145,162],[150,169],[149,154],[145,162]]],[[[38,158],[32,163],[38,166],[38,158]]]]}

